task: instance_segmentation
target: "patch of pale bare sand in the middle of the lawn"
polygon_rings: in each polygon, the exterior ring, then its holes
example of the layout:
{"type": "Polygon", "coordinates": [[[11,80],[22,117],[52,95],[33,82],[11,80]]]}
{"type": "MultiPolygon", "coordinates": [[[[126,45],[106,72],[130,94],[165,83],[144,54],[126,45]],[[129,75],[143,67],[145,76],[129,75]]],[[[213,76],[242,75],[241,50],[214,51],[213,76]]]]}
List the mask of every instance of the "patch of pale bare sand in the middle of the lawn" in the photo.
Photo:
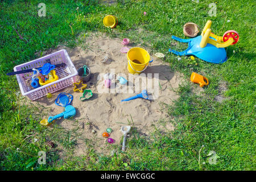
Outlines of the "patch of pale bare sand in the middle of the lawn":
{"type": "MultiPolygon", "coordinates": [[[[120,90],[124,87],[117,81],[118,74],[122,73],[122,76],[126,76],[126,78],[128,78],[129,75],[127,71],[126,53],[120,51],[120,49],[124,47],[121,42],[122,41],[119,39],[110,39],[105,36],[90,36],[86,38],[86,45],[88,46],[86,51],[81,47],[70,49],[65,46],[59,46],[52,51],[54,52],[63,48],[67,49],[77,69],[83,65],[87,65],[92,72],[92,77],[86,82],[88,85],[86,89],[90,89],[93,92],[93,97],[89,100],[80,101],[79,99],[82,93],[74,93],[72,86],[61,90],[61,92],[73,95],[72,105],[76,108],[77,112],[75,119],[79,121],[81,137],[77,139],[76,155],[86,154],[88,148],[85,143],[88,140],[93,142],[93,147],[96,151],[110,154],[109,150],[105,150],[110,144],[106,142],[105,138],[102,138],[102,133],[105,132],[108,127],[113,130],[110,137],[115,140],[115,144],[121,147],[120,141],[122,139],[122,133],[119,130],[121,126],[128,125],[127,119],[131,122],[131,117],[134,126],[144,135],[150,135],[151,131],[155,130],[155,127],[163,132],[174,130],[174,126],[170,122],[171,118],[168,117],[166,111],[168,105],[179,98],[174,92],[174,89],[181,83],[182,76],[179,73],[171,72],[168,63],[164,63],[151,53],[151,59],[154,59],[154,61],[143,73],[145,73],[146,76],[148,73],[152,73],[152,77],[154,77],[154,73],[159,73],[158,82],[154,82],[154,84],[158,85],[159,97],[152,101],[139,98],[129,102],[121,102],[122,99],[137,94],[117,93],[118,89],[120,90]],[[106,54],[112,59],[110,64],[101,63],[106,54]],[[109,73],[113,69],[115,71],[115,78],[112,80],[113,83],[115,82],[114,86],[112,85],[113,88],[105,90],[105,92],[109,93],[99,92],[99,88],[104,89],[104,82],[101,76],[105,73],[109,73]],[[96,133],[93,134],[92,130],[95,130],[96,133]]],[[[127,47],[137,47],[137,45],[131,45],[132,46],[127,47]]],[[[147,48],[146,50],[150,51],[147,48]]],[[[130,85],[127,85],[127,87],[129,86],[130,85]]],[[[131,85],[130,89],[134,90],[134,85],[131,85]]],[[[51,107],[51,114],[59,114],[63,111],[63,107],[54,104],[54,100],[59,93],[60,92],[54,93],[51,99],[44,97],[38,101],[44,106],[51,107]]],[[[74,123],[67,119],[59,119],[59,121],[55,122],[55,125],[60,125],[68,130],[75,127],[74,123]]]]}

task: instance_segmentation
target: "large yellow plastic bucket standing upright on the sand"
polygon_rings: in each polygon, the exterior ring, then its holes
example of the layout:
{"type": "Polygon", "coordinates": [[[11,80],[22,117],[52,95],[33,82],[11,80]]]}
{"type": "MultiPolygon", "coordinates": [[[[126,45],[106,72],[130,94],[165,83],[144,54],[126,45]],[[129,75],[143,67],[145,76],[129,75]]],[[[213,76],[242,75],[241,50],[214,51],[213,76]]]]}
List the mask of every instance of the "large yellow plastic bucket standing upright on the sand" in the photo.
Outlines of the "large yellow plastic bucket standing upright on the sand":
{"type": "Polygon", "coordinates": [[[127,52],[128,71],[131,74],[143,72],[150,61],[150,54],[143,48],[134,47],[127,52]]]}

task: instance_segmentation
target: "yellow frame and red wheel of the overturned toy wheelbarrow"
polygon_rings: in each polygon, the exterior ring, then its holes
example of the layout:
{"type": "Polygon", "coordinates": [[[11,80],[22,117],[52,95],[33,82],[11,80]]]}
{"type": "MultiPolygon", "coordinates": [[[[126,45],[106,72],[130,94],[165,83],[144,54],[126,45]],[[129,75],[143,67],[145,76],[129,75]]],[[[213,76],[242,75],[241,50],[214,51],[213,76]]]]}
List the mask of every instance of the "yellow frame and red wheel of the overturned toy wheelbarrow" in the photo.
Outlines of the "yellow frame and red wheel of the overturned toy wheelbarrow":
{"type": "Polygon", "coordinates": [[[238,32],[234,30],[226,31],[223,36],[217,36],[213,34],[210,30],[210,26],[212,25],[212,21],[208,20],[204,26],[204,29],[201,33],[202,39],[200,43],[200,47],[204,48],[207,46],[207,43],[216,46],[217,48],[224,48],[230,45],[236,44],[239,40],[238,32]],[[212,39],[213,38],[213,39],[212,39]],[[214,40],[215,39],[215,40],[214,40]]]}

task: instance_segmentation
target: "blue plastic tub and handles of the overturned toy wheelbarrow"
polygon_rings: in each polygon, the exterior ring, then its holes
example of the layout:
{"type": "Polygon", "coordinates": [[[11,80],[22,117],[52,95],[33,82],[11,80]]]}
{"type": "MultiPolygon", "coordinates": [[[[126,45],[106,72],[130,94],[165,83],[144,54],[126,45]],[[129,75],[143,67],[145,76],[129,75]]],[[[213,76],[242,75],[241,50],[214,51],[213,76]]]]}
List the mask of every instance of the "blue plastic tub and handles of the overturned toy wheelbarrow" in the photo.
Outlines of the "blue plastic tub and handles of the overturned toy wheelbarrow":
{"type": "Polygon", "coordinates": [[[216,46],[213,46],[209,43],[204,48],[201,48],[201,35],[192,39],[180,39],[173,35],[172,39],[177,40],[179,42],[188,43],[188,48],[182,52],[169,49],[169,52],[175,53],[178,56],[194,55],[204,61],[216,64],[224,63],[227,60],[225,48],[217,48],[216,46]]]}

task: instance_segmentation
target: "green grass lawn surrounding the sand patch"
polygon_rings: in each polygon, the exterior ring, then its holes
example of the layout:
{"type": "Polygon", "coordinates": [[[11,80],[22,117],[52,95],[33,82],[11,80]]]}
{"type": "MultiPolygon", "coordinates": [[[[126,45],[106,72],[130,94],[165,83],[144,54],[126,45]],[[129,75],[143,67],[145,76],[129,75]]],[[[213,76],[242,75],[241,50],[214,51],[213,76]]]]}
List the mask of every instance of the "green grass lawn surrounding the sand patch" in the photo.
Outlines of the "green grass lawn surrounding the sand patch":
{"type": "MultiPolygon", "coordinates": [[[[119,0],[111,6],[90,0],[43,1],[46,16],[39,17],[40,2],[0,2],[1,170],[256,169],[254,1],[214,1],[217,14],[212,17],[208,15],[208,5],[213,1],[119,0]],[[102,24],[108,14],[118,18],[113,30],[102,24]],[[167,53],[171,46],[177,50],[187,46],[182,43],[174,46],[176,41],[171,39],[171,35],[185,38],[185,23],[194,22],[203,29],[209,19],[214,34],[222,36],[227,30],[236,30],[240,35],[240,41],[227,48],[228,61],[211,64],[197,58],[192,61],[189,57],[178,61],[177,56],[167,53]],[[139,28],[143,31],[139,32],[139,28]],[[119,147],[113,156],[91,150],[88,155],[75,158],[72,151],[79,137],[76,130],[65,131],[55,126],[49,131],[40,126],[39,119],[47,109],[36,102],[20,104],[24,98],[20,96],[16,77],[5,74],[15,65],[36,59],[58,44],[79,46],[83,42],[78,41],[77,36],[97,31],[141,43],[151,54],[165,53],[171,69],[183,73],[187,82],[176,90],[180,98],[168,108],[168,114],[177,123],[174,132],[162,135],[156,130],[149,140],[134,129],[127,138],[129,150],[124,153],[119,147]],[[198,86],[189,81],[193,71],[209,79],[203,96],[192,91],[198,86]],[[217,96],[224,100],[218,102],[217,96]],[[33,114],[38,111],[43,113],[33,114]],[[60,143],[62,150],[47,146],[47,140],[60,143]],[[47,151],[46,165],[37,163],[38,152],[42,150],[47,151]],[[208,156],[210,151],[216,151],[220,157],[216,164],[208,162],[212,157],[208,156]],[[60,156],[63,152],[65,158],[60,156]]],[[[90,142],[87,143],[89,146],[90,142]]]]}

